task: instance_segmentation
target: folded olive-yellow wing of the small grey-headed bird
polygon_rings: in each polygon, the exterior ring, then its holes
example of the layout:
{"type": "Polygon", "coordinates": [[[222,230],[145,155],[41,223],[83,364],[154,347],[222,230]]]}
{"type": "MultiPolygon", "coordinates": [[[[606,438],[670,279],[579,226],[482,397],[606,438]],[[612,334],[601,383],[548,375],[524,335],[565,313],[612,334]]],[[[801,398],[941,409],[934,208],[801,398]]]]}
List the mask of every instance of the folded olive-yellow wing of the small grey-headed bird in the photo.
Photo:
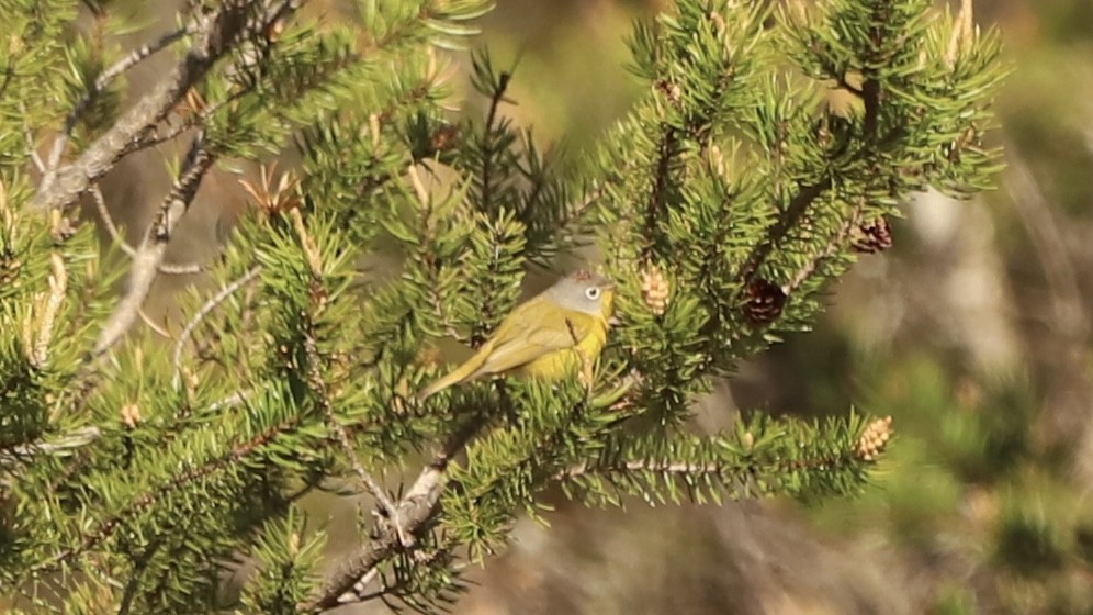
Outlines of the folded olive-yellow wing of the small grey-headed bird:
{"type": "Polygon", "coordinates": [[[514,312],[498,328],[494,347],[475,376],[500,373],[549,353],[572,348],[591,333],[593,321],[585,314],[567,315],[561,309],[514,312]],[[534,314],[536,322],[529,321],[528,314],[534,314]]]}

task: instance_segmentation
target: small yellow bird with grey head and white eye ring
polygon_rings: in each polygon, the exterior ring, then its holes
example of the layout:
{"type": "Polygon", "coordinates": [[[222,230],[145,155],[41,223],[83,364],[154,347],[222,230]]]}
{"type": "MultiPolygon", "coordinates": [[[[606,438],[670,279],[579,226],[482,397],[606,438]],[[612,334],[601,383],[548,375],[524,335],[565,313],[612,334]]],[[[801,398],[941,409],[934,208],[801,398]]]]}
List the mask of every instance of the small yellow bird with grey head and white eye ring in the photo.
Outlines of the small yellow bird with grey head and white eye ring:
{"type": "Polygon", "coordinates": [[[591,378],[591,366],[607,343],[615,284],[576,271],[518,305],[473,357],[429,384],[418,399],[452,384],[495,373],[559,380],[574,368],[591,378]]]}

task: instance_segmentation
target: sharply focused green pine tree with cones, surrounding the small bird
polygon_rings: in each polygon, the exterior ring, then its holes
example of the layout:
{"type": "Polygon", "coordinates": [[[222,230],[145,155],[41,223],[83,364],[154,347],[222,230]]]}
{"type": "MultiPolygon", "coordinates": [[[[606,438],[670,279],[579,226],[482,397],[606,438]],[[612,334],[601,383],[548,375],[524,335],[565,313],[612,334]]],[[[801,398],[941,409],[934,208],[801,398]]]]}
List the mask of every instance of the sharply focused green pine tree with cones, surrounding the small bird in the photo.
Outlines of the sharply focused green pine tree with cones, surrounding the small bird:
{"type": "Polygon", "coordinates": [[[589,505],[856,493],[889,421],[754,411],[696,434],[691,405],[805,331],[913,191],[968,195],[998,168],[998,37],[926,0],[679,0],[634,26],[647,94],[576,160],[506,116],[521,75],[485,54],[482,116],[449,111],[448,49],[485,0],[361,0],[345,21],[300,0],[189,2],[132,51],[114,4],[0,4],[0,588],[24,611],[428,610],[553,485],[589,505]],[[168,49],[123,103],[128,70],[168,49]],[[168,144],[184,152],[173,186],[129,246],[100,182],[168,144]],[[284,152],[298,165],[278,170],[284,152]],[[195,269],[167,247],[203,179],[238,160],[264,165],[255,208],[196,264],[222,290],[181,300],[165,348],[135,331],[142,305],[195,269]],[[619,286],[591,382],[415,396],[446,369],[438,343],[482,344],[529,268],[588,243],[619,286]],[[391,491],[406,467],[421,470],[391,491]],[[331,484],[375,506],[336,566],[298,507],[331,484]],[[228,596],[240,558],[258,570],[228,596]]]}

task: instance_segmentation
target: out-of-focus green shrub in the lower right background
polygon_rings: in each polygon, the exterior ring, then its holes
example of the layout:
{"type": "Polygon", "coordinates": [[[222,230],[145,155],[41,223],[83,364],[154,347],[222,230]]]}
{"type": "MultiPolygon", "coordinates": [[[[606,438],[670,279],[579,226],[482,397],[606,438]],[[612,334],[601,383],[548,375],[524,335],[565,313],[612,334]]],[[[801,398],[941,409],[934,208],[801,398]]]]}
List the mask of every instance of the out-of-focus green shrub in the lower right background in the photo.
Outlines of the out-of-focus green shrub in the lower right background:
{"type": "Polygon", "coordinates": [[[1082,612],[1091,594],[1072,580],[1089,567],[1093,510],[1059,471],[1058,454],[1035,441],[1030,412],[1040,402],[1029,384],[983,385],[919,354],[855,357],[847,369],[865,407],[892,413],[900,440],[880,463],[883,490],[813,511],[822,526],[882,533],[977,570],[974,592],[935,590],[937,613],[977,613],[977,596],[1000,613],[1082,612]]]}

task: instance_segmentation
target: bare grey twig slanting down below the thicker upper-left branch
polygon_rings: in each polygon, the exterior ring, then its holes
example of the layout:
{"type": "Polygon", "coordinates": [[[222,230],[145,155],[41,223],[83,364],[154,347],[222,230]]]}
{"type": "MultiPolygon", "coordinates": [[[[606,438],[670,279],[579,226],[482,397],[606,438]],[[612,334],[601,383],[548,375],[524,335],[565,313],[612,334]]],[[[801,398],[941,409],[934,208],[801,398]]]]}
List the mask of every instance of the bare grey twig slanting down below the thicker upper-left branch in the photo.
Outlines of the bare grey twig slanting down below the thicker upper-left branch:
{"type": "Polygon", "coordinates": [[[201,185],[201,179],[212,166],[213,156],[205,149],[202,135],[199,134],[190,147],[179,179],[167,194],[167,199],[159,209],[159,214],[148,227],[144,242],[140,243],[140,247],[133,257],[127,292],[119,301],[114,312],[99,333],[99,339],[91,351],[92,358],[97,358],[110,349],[133,326],[140,305],[144,304],[148,291],[151,290],[151,283],[156,279],[159,266],[164,262],[167,244],[170,242],[174,227],[189,211],[190,203],[193,202],[193,197],[201,185]]]}

